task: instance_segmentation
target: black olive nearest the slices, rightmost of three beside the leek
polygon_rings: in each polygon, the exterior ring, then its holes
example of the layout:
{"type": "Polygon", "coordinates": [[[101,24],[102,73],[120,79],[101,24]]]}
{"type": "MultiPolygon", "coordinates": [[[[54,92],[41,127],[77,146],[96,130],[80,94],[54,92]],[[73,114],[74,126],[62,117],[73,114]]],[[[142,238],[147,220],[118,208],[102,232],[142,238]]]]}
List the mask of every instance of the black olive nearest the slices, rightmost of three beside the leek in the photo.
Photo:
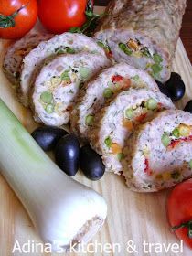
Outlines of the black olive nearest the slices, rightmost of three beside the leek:
{"type": "Polygon", "coordinates": [[[101,155],[98,155],[89,144],[80,149],[80,169],[91,180],[98,180],[104,175],[105,166],[102,164],[101,155]]]}

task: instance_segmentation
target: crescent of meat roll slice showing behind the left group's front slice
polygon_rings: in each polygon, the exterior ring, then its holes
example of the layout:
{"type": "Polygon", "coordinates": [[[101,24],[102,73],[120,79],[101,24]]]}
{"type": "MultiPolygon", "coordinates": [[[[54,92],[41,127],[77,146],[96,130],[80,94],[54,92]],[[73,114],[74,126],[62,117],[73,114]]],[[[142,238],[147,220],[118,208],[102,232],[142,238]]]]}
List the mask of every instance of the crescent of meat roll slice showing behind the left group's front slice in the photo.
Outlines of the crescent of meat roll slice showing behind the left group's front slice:
{"type": "Polygon", "coordinates": [[[64,33],[55,36],[48,41],[41,42],[23,60],[24,65],[21,73],[20,90],[22,92],[21,101],[28,105],[28,91],[37,74],[37,69],[41,68],[45,59],[57,56],[62,53],[77,53],[86,51],[100,53],[105,56],[104,50],[90,37],[76,33],[64,33]]]}

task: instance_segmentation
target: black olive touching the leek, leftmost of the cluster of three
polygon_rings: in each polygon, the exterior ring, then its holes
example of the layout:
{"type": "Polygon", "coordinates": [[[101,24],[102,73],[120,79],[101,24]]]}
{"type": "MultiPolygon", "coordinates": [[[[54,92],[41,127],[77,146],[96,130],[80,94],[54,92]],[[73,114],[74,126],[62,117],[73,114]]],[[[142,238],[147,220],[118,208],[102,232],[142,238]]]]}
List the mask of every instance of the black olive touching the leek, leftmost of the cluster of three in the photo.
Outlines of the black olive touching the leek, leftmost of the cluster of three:
{"type": "Polygon", "coordinates": [[[68,133],[65,130],[54,126],[38,127],[33,133],[31,133],[37,144],[44,151],[54,149],[59,139],[66,134],[68,133]]]}

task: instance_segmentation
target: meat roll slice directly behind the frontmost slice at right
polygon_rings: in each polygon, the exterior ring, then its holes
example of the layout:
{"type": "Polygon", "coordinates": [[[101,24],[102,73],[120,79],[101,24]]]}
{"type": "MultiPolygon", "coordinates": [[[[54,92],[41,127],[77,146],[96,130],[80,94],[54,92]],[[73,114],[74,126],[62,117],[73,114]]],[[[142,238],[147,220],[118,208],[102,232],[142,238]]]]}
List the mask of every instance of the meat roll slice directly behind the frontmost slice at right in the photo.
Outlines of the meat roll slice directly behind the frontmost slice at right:
{"type": "Polygon", "coordinates": [[[151,120],[156,112],[175,108],[159,91],[130,89],[117,95],[109,106],[95,116],[91,129],[91,146],[102,155],[107,171],[120,173],[125,140],[135,126],[151,120]]]}

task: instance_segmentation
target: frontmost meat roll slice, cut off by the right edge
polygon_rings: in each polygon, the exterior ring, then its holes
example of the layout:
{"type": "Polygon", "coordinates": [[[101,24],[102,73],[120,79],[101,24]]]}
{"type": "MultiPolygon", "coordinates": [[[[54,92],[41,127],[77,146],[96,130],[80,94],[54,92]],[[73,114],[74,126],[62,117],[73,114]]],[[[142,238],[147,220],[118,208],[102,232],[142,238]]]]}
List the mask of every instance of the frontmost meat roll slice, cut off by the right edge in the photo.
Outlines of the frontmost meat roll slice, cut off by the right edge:
{"type": "Polygon", "coordinates": [[[123,155],[123,176],[134,191],[158,191],[192,176],[192,114],[158,114],[126,141],[123,155]]]}

